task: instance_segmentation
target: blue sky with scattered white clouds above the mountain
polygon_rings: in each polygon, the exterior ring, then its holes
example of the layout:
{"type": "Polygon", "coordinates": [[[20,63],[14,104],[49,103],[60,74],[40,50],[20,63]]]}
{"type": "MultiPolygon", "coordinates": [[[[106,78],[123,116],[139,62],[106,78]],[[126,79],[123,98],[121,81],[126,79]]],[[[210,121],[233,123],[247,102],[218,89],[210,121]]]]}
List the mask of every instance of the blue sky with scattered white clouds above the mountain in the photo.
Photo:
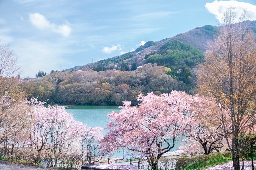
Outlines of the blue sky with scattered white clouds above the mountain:
{"type": "Polygon", "coordinates": [[[0,0],[0,44],[22,77],[85,65],[205,25],[229,6],[256,20],[256,0],[0,0]]]}

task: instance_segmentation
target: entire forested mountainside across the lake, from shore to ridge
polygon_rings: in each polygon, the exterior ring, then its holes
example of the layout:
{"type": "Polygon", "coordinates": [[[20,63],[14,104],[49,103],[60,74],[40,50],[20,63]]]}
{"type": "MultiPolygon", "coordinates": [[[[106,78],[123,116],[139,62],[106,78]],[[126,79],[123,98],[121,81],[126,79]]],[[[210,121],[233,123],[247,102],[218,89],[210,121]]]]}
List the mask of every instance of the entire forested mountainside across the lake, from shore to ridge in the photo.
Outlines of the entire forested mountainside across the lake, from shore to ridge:
{"type": "MultiPolygon", "coordinates": [[[[250,21],[256,32],[256,22],[250,21]]],[[[69,71],[52,71],[36,81],[24,81],[29,97],[59,104],[138,104],[138,94],[156,95],[172,90],[193,94],[198,64],[204,62],[207,42],[214,41],[218,28],[198,27],[186,33],[149,41],[121,56],[76,66],[69,71]]]]}

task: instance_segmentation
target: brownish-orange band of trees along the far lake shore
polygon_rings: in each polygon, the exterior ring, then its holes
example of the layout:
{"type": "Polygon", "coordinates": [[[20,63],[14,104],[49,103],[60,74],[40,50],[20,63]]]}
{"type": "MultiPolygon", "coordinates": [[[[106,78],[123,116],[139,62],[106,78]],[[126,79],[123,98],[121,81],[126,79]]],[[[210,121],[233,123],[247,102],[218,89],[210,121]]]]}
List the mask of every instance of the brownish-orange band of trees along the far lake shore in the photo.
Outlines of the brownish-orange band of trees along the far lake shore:
{"type": "Polygon", "coordinates": [[[144,64],[135,71],[72,71],[53,72],[36,81],[24,82],[30,97],[58,104],[74,105],[122,105],[122,101],[138,104],[138,94],[154,92],[170,93],[181,90],[193,91],[193,78],[188,68],[179,74],[187,83],[173,79],[170,68],[157,64],[144,64]],[[185,78],[186,77],[186,78],[185,78]]]}

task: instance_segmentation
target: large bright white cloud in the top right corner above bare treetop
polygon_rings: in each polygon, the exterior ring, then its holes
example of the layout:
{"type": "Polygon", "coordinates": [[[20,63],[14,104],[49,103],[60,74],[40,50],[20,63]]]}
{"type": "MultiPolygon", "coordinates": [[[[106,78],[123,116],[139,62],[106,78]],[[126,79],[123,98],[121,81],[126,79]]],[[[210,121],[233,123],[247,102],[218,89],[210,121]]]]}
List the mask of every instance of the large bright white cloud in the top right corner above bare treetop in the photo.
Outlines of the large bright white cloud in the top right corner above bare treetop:
{"type": "Polygon", "coordinates": [[[205,5],[207,10],[214,14],[220,22],[226,8],[230,6],[237,9],[238,18],[243,13],[243,10],[247,9],[247,11],[251,14],[251,20],[256,20],[256,6],[249,3],[238,1],[214,1],[212,3],[206,3],[205,5]]]}

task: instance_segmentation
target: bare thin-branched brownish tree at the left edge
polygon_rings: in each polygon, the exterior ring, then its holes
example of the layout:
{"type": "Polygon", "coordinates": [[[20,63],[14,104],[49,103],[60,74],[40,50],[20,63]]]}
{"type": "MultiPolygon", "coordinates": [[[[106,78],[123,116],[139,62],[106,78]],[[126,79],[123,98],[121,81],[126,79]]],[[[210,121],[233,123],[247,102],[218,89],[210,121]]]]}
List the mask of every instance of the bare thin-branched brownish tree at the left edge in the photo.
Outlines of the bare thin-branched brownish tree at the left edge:
{"type": "Polygon", "coordinates": [[[29,106],[15,78],[20,74],[17,58],[7,45],[0,45],[0,144],[14,149],[23,130],[29,125],[29,106]]]}

